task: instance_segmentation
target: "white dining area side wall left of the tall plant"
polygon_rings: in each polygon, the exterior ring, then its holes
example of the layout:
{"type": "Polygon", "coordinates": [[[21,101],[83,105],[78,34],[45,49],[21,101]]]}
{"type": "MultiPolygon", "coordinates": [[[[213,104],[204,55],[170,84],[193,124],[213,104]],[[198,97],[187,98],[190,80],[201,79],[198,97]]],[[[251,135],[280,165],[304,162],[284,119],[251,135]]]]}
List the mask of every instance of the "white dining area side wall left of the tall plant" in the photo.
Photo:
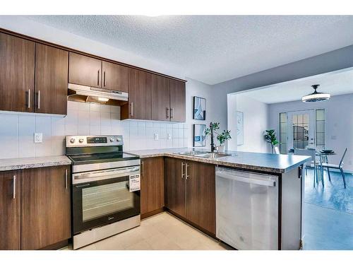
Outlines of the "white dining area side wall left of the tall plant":
{"type": "Polygon", "coordinates": [[[246,95],[228,95],[228,115],[232,121],[228,122],[228,129],[233,138],[237,138],[237,111],[244,113],[244,144],[234,146],[237,140],[229,142],[229,150],[244,152],[268,153],[268,143],[263,134],[268,129],[268,105],[249,98],[246,95]]]}

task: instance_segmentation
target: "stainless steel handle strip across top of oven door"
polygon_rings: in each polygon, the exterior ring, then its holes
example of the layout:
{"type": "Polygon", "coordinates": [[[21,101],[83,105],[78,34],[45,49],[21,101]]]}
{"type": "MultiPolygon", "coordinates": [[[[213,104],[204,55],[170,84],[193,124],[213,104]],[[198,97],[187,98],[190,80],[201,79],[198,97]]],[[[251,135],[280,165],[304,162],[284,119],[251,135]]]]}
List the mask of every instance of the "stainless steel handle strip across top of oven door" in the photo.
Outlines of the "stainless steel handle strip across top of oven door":
{"type": "Polygon", "coordinates": [[[126,167],[124,169],[114,169],[114,170],[100,170],[95,172],[84,172],[73,174],[73,184],[90,182],[101,179],[111,179],[116,177],[124,177],[126,175],[132,175],[131,173],[140,172],[140,166],[126,167]],[[114,177],[112,177],[114,175],[114,177]]]}

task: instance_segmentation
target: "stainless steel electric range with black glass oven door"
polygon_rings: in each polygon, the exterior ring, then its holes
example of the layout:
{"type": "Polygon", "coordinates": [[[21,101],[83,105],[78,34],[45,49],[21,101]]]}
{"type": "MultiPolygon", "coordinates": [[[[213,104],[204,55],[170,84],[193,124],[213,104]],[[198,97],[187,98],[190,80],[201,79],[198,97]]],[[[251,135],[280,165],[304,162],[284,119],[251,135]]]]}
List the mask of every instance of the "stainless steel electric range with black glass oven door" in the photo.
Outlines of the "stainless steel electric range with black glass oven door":
{"type": "Polygon", "coordinates": [[[140,158],[122,136],[66,136],[73,249],[140,225],[140,158]]]}

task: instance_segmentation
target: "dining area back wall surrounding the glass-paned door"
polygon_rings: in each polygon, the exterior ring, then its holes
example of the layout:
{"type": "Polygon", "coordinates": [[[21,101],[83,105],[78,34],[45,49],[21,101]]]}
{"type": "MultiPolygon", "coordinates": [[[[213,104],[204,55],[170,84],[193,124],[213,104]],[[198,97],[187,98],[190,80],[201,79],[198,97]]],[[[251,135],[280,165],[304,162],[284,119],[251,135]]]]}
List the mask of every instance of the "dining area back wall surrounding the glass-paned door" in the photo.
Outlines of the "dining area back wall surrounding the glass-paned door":
{"type": "Polygon", "coordinates": [[[305,103],[301,101],[282,102],[269,105],[270,127],[279,130],[280,112],[312,110],[324,108],[326,114],[325,147],[333,149],[337,155],[330,156],[330,163],[339,163],[348,148],[345,157],[345,169],[353,171],[353,93],[335,95],[324,102],[305,103]]]}

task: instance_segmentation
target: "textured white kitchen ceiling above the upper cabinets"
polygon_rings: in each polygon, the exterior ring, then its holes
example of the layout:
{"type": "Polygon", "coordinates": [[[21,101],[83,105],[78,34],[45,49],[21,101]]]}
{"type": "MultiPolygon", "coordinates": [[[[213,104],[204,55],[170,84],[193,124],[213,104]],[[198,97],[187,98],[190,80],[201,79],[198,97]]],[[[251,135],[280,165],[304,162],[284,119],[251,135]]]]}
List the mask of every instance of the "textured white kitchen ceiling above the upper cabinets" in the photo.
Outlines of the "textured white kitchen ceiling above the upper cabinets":
{"type": "Polygon", "coordinates": [[[353,16],[26,16],[208,84],[353,44],[353,16]]]}

